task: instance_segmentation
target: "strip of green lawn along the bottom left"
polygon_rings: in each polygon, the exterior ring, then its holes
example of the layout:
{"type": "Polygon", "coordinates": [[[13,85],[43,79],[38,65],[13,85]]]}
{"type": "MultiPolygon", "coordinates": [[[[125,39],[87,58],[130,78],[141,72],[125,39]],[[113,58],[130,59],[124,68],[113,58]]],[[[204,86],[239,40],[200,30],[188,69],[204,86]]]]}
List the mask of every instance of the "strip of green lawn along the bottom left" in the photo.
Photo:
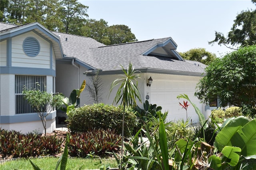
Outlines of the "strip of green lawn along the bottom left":
{"type": "MultiPolygon", "coordinates": [[[[32,158],[31,160],[39,167],[44,170],[54,170],[56,163],[58,161],[58,157],[45,157],[45,158],[32,158]]],[[[68,163],[66,166],[66,170],[78,170],[81,166],[84,165],[83,169],[98,169],[101,165],[108,165],[111,168],[117,167],[116,160],[102,160],[102,164],[100,164],[99,159],[85,159],[85,158],[68,158],[68,163]],[[98,164],[98,165],[95,165],[98,164]]],[[[17,160],[11,160],[8,162],[4,162],[0,164],[0,170],[14,170],[14,169],[22,169],[22,170],[33,170],[32,165],[30,164],[28,159],[21,158],[17,160]]],[[[60,169],[60,166],[59,168],[60,169]]]]}

